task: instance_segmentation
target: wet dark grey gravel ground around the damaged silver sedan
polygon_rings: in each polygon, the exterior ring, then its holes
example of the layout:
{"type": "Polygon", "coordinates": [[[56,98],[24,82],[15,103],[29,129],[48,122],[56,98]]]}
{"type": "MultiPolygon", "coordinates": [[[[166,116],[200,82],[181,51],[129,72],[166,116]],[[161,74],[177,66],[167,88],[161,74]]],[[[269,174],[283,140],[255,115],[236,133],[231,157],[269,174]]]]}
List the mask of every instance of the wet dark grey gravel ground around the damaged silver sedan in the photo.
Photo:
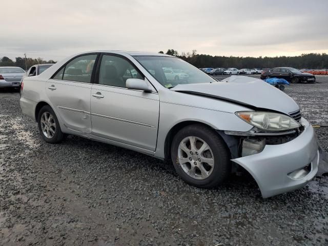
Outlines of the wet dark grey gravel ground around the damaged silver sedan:
{"type": "MultiPolygon", "coordinates": [[[[324,125],[328,77],[317,80],[286,93],[324,125]]],[[[0,245],[328,245],[326,176],[269,199],[249,175],[197,189],[133,151],[75,136],[46,144],[18,100],[0,92],[0,245]]],[[[325,151],[327,130],[316,129],[325,151]]]]}

